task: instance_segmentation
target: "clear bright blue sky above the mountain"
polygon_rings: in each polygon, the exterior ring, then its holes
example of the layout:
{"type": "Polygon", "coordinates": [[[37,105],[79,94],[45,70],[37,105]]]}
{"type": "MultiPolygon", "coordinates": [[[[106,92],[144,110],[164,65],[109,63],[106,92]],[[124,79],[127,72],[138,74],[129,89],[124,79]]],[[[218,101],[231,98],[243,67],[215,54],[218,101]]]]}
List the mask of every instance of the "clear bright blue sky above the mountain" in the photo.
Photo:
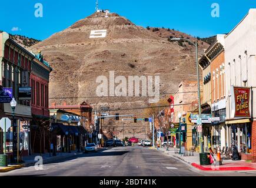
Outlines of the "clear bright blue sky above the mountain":
{"type": "MultiPolygon", "coordinates": [[[[95,11],[96,0],[13,0],[1,2],[0,30],[46,39],[95,11]],[[35,4],[43,5],[43,17],[34,16],[35,4]],[[16,31],[12,31],[16,28],[16,31]]],[[[229,32],[256,8],[255,0],[98,0],[99,8],[110,9],[134,24],[179,30],[207,37],[229,32]],[[220,17],[211,16],[211,5],[220,5],[220,17]]]]}

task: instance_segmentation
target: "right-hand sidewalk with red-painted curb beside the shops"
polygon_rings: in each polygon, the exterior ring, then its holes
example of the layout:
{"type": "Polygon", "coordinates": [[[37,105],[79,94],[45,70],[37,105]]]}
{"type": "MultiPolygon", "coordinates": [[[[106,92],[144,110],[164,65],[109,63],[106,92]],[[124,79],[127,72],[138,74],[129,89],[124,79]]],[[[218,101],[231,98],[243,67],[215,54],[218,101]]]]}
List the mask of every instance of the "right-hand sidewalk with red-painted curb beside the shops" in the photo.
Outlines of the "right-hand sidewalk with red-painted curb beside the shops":
{"type": "Polygon", "coordinates": [[[166,148],[158,148],[157,150],[167,153],[168,155],[175,157],[184,161],[185,163],[190,164],[191,166],[196,167],[200,170],[207,171],[239,171],[239,170],[256,170],[256,163],[247,162],[245,160],[222,160],[222,165],[214,166],[212,165],[200,165],[199,153],[194,152],[194,156],[181,156],[178,153],[175,153],[174,148],[169,148],[169,151],[166,148]]]}

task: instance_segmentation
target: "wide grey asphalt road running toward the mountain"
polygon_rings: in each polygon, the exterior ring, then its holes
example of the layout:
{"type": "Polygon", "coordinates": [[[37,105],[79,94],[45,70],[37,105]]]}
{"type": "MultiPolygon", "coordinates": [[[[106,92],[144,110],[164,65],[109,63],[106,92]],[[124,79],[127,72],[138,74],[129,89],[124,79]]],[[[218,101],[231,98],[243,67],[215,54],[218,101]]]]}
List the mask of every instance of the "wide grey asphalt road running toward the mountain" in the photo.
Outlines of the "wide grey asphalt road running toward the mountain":
{"type": "MultiPolygon", "coordinates": [[[[255,172],[256,174],[256,172],[255,172]]],[[[254,173],[203,172],[158,150],[141,146],[114,147],[0,176],[255,176],[254,173]]]]}

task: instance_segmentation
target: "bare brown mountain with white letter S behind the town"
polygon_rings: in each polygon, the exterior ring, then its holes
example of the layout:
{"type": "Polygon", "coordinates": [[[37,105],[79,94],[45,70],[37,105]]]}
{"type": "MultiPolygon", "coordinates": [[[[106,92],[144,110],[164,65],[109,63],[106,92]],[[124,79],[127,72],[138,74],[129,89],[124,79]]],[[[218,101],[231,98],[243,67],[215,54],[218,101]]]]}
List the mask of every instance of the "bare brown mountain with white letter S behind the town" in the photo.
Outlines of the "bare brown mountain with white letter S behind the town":
{"type": "MultiPolygon", "coordinates": [[[[186,42],[168,41],[169,36],[179,35],[197,40],[168,29],[153,32],[152,28],[137,26],[118,14],[112,13],[106,17],[102,12],[97,12],[29,49],[34,52],[40,50],[53,68],[49,82],[50,105],[54,102],[67,102],[69,105],[88,101],[94,109],[101,106],[118,109],[111,111],[112,115],[133,114],[141,118],[144,117],[143,109],[123,109],[148,106],[148,97],[97,97],[97,77],[109,78],[111,70],[115,71],[115,78],[159,76],[161,93],[176,92],[181,80],[197,78],[194,47],[186,42]],[[91,31],[102,29],[107,30],[105,38],[89,38],[91,31]]],[[[209,45],[203,41],[199,43],[202,54],[209,45]]],[[[167,96],[169,94],[161,95],[161,98],[167,96]]],[[[135,136],[145,137],[147,122],[124,123],[125,127],[134,127],[135,136]]],[[[105,131],[118,130],[122,136],[121,119],[105,119],[102,126],[105,131]]],[[[132,129],[125,129],[125,136],[133,136],[132,129]]]]}

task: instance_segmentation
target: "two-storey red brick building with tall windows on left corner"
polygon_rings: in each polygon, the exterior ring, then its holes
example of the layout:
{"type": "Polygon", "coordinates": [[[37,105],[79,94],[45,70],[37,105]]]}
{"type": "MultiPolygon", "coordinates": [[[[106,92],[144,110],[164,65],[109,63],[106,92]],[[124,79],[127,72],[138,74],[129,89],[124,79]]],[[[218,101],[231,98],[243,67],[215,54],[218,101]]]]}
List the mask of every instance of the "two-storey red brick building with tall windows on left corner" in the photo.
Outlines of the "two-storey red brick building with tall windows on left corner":
{"type": "MultiPolygon", "coordinates": [[[[20,46],[14,40],[9,38],[9,34],[6,32],[0,33],[0,86],[1,88],[11,88],[13,91],[13,97],[15,98],[17,105],[14,110],[14,129],[11,127],[6,134],[7,147],[6,153],[12,155],[12,152],[16,153],[16,150],[20,150],[21,155],[28,155],[32,152],[38,152],[36,149],[40,145],[38,142],[38,135],[34,133],[38,131],[39,119],[44,117],[44,123],[41,125],[45,130],[44,133],[40,133],[39,137],[41,140],[46,140],[45,136],[48,129],[45,129],[49,125],[49,112],[48,112],[48,88],[49,72],[51,68],[49,63],[41,60],[37,56],[27,51],[25,48],[20,46]],[[35,87],[32,86],[32,80],[44,83],[44,91],[38,89],[35,91],[35,87]],[[38,100],[44,103],[40,105],[34,105],[29,98],[21,98],[19,96],[19,88],[21,87],[32,87],[32,96],[36,93],[40,93],[38,100]],[[19,133],[18,137],[13,137],[19,133]]],[[[0,104],[0,117],[9,117],[12,119],[12,109],[9,102],[0,104]]],[[[40,129],[42,130],[42,129],[40,129]]],[[[2,135],[1,135],[2,141],[2,135]]],[[[2,142],[1,142],[2,146],[2,142]]],[[[42,148],[44,152],[46,146],[42,148]]],[[[2,152],[2,148],[1,148],[2,152]]],[[[16,157],[16,156],[14,156],[16,157]]]]}

